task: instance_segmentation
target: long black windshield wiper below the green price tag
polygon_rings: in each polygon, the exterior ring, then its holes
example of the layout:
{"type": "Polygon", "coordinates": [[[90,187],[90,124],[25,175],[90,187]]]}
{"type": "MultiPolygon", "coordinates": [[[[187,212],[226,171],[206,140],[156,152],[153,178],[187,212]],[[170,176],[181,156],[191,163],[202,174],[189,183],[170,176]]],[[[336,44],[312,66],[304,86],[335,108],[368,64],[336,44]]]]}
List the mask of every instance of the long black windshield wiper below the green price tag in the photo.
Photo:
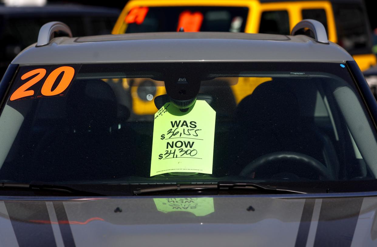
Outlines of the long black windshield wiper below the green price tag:
{"type": "Polygon", "coordinates": [[[133,194],[145,194],[152,192],[164,192],[164,191],[185,191],[185,190],[201,190],[201,189],[216,189],[216,190],[231,190],[231,189],[256,189],[259,191],[266,191],[268,194],[280,194],[281,192],[291,192],[295,194],[307,194],[308,191],[296,190],[285,187],[261,185],[256,183],[242,183],[242,182],[218,182],[217,184],[175,184],[175,185],[163,185],[157,187],[151,187],[146,189],[136,189],[133,194]]]}

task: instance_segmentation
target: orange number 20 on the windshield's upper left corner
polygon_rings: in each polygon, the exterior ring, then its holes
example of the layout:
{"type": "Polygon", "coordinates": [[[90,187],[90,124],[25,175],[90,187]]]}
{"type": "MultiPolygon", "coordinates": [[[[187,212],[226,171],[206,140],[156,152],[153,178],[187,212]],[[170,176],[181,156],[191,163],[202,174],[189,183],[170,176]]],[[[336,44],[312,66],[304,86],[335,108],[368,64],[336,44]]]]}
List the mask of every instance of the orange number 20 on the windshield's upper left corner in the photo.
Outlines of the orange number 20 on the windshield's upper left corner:
{"type": "MultiPolygon", "coordinates": [[[[23,84],[22,86],[20,86],[19,88],[17,88],[16,91],[14,91],[14,93],[11,95],[11,98],[10,98],[11,101],[34,95],[34,90],[28,90],[28,89],[35,83],[39,82],[46,75],[46,70],[44,68],[39,68],[39,69],[29,71],[28,73],[25,73],[21,76],[21,80],[25,80],[31,76],[34,76],[35,74],[38,74],[38,75],[35,76],[33,79],[29,80],[28,82],[26,82],[25,84],[23,84]]],[[[61,92],[63,92],[64,90],[68,88],[69,84],[71,83],[74,77],[74,74],[75,74],[74,68],[69,67],[69,66],[62,66],[53,70],[48,75],[47,79],[44,81],[41,88],[41,93],[44,96],[53,96],[53,95],[60,94],[61,92]],[[58,86],[54,90],[51,91],[52,86],[55,83],[55,80],[62,72],[64,74],[58,86]]]]}

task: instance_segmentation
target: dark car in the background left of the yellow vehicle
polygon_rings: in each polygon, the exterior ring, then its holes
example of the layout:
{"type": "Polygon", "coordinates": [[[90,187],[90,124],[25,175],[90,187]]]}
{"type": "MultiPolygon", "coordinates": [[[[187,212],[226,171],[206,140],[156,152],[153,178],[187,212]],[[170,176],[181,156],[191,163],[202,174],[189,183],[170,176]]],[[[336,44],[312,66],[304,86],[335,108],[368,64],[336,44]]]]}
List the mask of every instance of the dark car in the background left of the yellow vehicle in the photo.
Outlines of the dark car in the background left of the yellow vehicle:
{"type": "Polygon", "coordinates": [[[49,21],[62,21],[74,36],[111,32],[120,11],[84,5],[45,5],[43,7],[0,6],[0,74],[24,48],[37,42],[38,31],[49,21]]]}

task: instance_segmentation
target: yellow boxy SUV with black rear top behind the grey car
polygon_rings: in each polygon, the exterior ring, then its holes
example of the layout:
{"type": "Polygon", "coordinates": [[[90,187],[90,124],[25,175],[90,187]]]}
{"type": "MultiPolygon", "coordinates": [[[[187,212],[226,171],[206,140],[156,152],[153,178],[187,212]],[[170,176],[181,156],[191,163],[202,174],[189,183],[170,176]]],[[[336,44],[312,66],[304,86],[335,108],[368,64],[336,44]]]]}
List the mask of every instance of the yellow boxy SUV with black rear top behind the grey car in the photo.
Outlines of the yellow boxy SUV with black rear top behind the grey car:
{"type": "Polygon", "coordinates": [[[303,19],[320,21],[330,41],[349,52],[362,71],[376,65],[363,0],[130,0],[112,30],[217,31],[289,35],[303,19]]]}

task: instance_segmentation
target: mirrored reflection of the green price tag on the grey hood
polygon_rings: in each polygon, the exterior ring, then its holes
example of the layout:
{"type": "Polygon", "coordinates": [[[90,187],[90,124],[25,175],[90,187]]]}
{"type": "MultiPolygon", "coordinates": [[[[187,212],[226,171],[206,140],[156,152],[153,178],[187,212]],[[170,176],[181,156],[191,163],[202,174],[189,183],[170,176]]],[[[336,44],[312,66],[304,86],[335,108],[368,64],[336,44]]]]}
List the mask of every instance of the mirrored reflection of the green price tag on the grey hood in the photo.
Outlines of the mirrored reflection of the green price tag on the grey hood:
{"type": "Polygon", "coordinates": [[[153,198],[158,211],[169,212],[190,212],[195,216],[205,216],[215,212],[213,198],[153,198]]]}

